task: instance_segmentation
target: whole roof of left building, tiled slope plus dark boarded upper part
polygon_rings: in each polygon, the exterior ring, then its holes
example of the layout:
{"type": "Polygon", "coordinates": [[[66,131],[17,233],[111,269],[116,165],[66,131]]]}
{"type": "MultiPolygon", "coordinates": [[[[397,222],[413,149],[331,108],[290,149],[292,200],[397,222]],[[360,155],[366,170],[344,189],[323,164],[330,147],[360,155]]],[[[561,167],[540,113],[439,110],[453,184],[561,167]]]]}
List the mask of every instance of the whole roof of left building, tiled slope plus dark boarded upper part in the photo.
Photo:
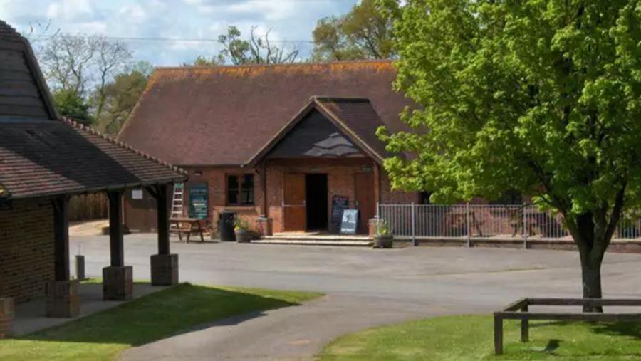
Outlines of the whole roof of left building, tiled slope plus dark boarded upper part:
{"type": "Polygon", "coordinates": [[[31,46],[0,21],[0,199],[181,182],[181,170],[53,108],[31,46]]]}

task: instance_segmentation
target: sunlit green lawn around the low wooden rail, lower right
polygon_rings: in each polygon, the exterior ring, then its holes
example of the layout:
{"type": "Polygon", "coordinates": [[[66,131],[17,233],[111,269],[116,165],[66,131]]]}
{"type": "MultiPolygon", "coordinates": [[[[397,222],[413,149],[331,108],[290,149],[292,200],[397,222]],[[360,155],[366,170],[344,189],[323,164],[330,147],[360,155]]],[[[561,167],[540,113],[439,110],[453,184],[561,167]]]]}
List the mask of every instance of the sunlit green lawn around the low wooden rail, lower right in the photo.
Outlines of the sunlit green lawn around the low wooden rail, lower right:
{"type": "Polygon", "coordinates": [[[320,360],[640,360],[641,325],[533,322],[521,343],[504,321],[504,355],[494,357],[489,316],[449,316],[372,328],[330,343],[320,360]]]}

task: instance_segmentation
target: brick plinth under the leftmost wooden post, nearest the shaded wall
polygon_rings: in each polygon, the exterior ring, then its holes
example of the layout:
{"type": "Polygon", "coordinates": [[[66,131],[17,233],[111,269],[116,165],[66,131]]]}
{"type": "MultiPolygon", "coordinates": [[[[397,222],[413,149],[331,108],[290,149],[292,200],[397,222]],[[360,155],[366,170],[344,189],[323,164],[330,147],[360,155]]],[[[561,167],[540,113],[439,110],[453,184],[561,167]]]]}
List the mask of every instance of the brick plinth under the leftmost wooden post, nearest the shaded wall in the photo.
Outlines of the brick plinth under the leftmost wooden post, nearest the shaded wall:
{"type": "Polygon", "coordinates": [[[73,318],[80,314],[78,280],[49,281],[45,286],[46,315],[51,318],[73,318]]]}

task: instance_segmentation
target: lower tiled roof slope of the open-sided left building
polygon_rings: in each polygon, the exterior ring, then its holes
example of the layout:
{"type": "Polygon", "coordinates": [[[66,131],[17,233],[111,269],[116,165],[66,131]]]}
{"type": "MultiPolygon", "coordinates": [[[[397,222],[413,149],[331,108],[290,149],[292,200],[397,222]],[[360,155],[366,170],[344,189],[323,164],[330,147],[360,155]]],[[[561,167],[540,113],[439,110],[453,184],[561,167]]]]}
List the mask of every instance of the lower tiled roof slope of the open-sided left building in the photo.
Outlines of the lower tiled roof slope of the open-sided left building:
{"type": "Polygon", "coordinates": [[[186,179],[176,167],[72,120],[3,120],[0,134],[0,184],[12,199],[186,179]]]}

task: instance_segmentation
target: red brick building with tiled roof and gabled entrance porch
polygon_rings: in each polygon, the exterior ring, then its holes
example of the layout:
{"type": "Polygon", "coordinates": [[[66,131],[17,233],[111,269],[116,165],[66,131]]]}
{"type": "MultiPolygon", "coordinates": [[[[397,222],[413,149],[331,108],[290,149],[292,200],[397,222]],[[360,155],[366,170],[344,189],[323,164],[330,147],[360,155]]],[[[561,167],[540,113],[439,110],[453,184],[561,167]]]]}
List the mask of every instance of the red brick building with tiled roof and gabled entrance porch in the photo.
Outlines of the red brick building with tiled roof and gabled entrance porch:
{"type": "MultiPolygon", "coordinates": [[[[390,61],[159,68],[118,139],[187,169],[187,204],[199,197],[212,223],[231,210],[276,232],[335,231],[340,196],[364,233],[377,202],[419,202],[392,191],[381,167],[390,154],[377,128],[406,130],[399,114],[412,106],[395,77],[390,61]]],[[[125,224],[154,230],[150,197],[137,194],[125,224]]]]}

